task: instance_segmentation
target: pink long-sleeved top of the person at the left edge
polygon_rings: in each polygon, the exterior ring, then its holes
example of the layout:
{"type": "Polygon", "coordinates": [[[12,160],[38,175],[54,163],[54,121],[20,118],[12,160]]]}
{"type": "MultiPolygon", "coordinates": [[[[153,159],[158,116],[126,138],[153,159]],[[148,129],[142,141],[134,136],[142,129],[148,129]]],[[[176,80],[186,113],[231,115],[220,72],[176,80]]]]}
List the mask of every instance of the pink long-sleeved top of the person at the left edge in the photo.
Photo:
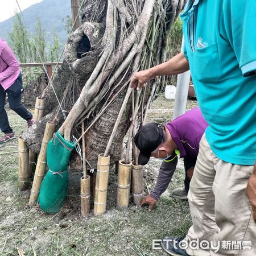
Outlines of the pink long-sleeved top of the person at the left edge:
{"type": "Polygon", "coordinates": [[[0,38],[0,84],[3,89],[6,90],[13,85],[19,74],[18,60],[5,40],[0,38]]]}

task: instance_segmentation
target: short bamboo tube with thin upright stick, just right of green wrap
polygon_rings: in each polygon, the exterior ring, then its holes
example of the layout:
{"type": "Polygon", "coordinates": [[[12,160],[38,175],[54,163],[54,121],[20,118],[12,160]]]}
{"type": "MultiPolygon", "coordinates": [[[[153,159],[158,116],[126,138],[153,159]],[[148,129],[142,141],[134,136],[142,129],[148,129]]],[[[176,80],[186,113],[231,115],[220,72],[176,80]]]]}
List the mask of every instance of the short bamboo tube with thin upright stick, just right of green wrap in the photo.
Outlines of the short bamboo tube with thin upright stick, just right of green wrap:
{"type": "MultiPolygon", "coordinates": [[[[82,133],[84,133],[84,122],[82,122],[82,133]]],[[[90,176],[86,175],[85,137],[82,138],[82,168],[84,175],[81,177],[81,214],[83,217],[90,213],[90,176]]]]}

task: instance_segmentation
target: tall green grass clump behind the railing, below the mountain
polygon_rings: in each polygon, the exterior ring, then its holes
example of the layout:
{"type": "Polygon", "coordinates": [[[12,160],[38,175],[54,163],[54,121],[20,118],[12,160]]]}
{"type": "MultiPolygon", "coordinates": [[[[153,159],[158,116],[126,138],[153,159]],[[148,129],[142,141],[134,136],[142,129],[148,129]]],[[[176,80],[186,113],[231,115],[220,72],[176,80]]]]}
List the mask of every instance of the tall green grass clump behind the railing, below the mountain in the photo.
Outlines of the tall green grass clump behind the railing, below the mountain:
{"type": "Polygon", "coordinates": [[[30,34],[20,14],[15,14],[13,29],[9,32],[10,46],[20,63],[57,61],[60,41],[53,28],[53,43],[47,42],[49,33],[44,31],[40,18],[36,18],[35,33],[30,34]],[[40,57],[39,57],[40,55],[40,57]]]}

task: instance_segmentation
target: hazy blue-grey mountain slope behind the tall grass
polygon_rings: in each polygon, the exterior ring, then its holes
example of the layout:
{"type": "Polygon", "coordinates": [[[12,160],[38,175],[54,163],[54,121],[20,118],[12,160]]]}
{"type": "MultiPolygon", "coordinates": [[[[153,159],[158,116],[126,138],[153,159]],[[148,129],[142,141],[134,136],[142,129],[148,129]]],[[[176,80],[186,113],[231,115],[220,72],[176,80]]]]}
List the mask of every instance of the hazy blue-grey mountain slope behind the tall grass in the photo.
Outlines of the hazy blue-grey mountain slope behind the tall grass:
{"type": "MultiPolygon", "coordinates": [[[[44,0],[36,3],[22,11],[24,23],[28,31],[35,31],[36,17],[41,18],[44,31],[48,32],[47,40],[51,41],[52,31],[55,28],[61,44],[67,39],[67,32],[64,30],[65,24],[61,21],[67,15],[71,16],[70,0],[44,0]]],[[[13,17],[0,22],[0,38],[9,41],[8,32],[13,27],[13,17]]]]}

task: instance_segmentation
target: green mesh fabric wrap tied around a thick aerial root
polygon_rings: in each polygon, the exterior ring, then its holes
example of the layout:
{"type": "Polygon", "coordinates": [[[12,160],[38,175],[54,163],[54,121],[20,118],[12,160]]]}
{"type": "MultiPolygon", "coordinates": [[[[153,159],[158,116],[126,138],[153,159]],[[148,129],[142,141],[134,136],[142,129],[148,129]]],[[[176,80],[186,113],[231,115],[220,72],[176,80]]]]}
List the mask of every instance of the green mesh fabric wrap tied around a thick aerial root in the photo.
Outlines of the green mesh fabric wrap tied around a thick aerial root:
{"type": "Polygon", "coordinates": [[[47,165],[49,171],[42,181],[38,202],[41,209],[53,214],[59,212],[65,203],[68,191],[68,162],[75,143],[66,141],[57,131],[47,144],[47,165]]]}

